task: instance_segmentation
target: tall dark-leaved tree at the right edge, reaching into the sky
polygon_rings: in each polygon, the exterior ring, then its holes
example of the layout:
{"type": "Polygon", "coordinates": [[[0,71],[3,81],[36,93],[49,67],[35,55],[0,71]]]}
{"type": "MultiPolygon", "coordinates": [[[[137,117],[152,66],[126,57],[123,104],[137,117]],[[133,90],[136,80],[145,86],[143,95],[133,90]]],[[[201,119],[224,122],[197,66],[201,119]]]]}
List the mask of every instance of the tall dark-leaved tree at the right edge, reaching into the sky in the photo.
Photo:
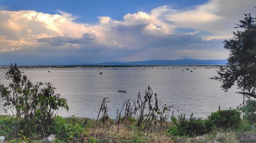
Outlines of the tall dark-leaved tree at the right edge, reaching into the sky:
{"type": "Polygon", "coordinates": [[[235,28],[244,31],[233,32],[233,38],[225,40],[224,48],[230,51],[226,66],[219,66],[219,76],[212,77],[222,82],[221,88],[227,92],[237,84],[240,94],[248,98],[256,98],[256,23],[251,14],[244,14],[245,18],[235,28]]]}

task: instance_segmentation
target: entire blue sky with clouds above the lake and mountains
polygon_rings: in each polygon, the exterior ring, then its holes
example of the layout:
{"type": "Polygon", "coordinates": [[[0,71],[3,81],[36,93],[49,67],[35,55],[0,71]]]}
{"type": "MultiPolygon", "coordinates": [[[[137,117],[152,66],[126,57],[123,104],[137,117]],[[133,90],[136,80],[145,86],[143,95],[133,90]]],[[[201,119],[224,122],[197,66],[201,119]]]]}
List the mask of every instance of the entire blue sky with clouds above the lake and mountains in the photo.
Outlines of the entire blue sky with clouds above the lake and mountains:
{"type": "Polygon", "coordinates": [[[0,0],[0,65],[226,59],[255,0],[0,0]]]}

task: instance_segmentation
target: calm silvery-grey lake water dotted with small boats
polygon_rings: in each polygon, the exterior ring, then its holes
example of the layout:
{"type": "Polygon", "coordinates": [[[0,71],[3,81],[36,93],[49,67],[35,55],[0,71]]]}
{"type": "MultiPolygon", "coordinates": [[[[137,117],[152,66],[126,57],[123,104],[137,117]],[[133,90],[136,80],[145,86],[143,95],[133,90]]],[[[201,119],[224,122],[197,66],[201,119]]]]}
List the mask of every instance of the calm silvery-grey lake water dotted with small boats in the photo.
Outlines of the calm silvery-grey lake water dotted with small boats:
{"type": "MultiPolygon", "coordinates": [[[[243,100],[240,94],[236,94],[236,88],[225,93],[220,89],[219,81],[209,79],[217,75],[218,69],[212,67],[145,66],[20,70],[33,82],[53,83],[56,93],[60,93],[61,97],[68,100],[70,110],[58,111],[59,115],[65,117],[75,115],[97,118],[102,99],[109,97],[108,114],[115,118],[116,110],[120,110],[125,100],[137,99],[138,92],[143,95],[148,85],[157,93],[163,104],[179,107],[180,113],[186,113],[187,117],[193,112],[194,117],[205,118],[210,112],[218,110],[219,105],[222,109],[235,108],[243,100]],[[189,70],[185,70],[186,68],[189,70]],[[127,93],[119,93],[118,90],[126,90],[127,93]]],[[[7,69],[0,69],[0,84],[7,85],[4,71],[7,69]]],[[[3,101],[0,102],[3,104],[3,101]]],[[[4,114],[2,108],[0,114],[4,114]]],[[[178,115],[178,112],[175,112],[175,115],[178,115]]]]}

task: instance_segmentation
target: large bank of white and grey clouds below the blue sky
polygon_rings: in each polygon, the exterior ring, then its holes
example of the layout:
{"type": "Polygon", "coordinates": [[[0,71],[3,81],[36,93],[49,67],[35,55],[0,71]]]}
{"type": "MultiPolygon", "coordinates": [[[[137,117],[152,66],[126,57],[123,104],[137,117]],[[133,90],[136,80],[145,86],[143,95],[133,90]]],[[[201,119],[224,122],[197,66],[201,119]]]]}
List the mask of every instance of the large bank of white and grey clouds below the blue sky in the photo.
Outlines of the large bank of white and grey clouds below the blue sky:
{"type": "Polygon", "coordinates": [[[243,13],[255,12],[254,5],[252,0],[213,0],[185,9],[167,5],[128,13],[122,20],[98,16],[96,24],[75,22],[79,17],[60,10],[57,14],[0,10],[0,61],[5,61],[0,64],[12,61],[7,55],[24,63],[45,58],[56,64],[225,59],[223,39],[232,36],[243,13]]]}

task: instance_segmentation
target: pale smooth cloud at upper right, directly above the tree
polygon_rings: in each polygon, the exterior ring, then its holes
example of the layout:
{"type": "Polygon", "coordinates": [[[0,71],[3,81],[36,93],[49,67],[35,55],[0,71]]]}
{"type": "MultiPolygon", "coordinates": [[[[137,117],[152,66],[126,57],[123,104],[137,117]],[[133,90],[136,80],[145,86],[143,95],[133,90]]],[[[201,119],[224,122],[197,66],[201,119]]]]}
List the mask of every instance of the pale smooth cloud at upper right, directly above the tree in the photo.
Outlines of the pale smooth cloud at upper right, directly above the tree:
{"type": "MultiPolygon", "coordinates": [[[[162,16],[166,23],[171,23],[175,28],[194,28],[207,31],[212,38],[230,38],[234,23],[244,17],[244,13],[255,14],[255,1],[214,0],[206,4],[185,10],[175,10],[164,6],[152,10],[162,16]]],[[[208,39],[212,39],[208,37],[208,39]]]]}

